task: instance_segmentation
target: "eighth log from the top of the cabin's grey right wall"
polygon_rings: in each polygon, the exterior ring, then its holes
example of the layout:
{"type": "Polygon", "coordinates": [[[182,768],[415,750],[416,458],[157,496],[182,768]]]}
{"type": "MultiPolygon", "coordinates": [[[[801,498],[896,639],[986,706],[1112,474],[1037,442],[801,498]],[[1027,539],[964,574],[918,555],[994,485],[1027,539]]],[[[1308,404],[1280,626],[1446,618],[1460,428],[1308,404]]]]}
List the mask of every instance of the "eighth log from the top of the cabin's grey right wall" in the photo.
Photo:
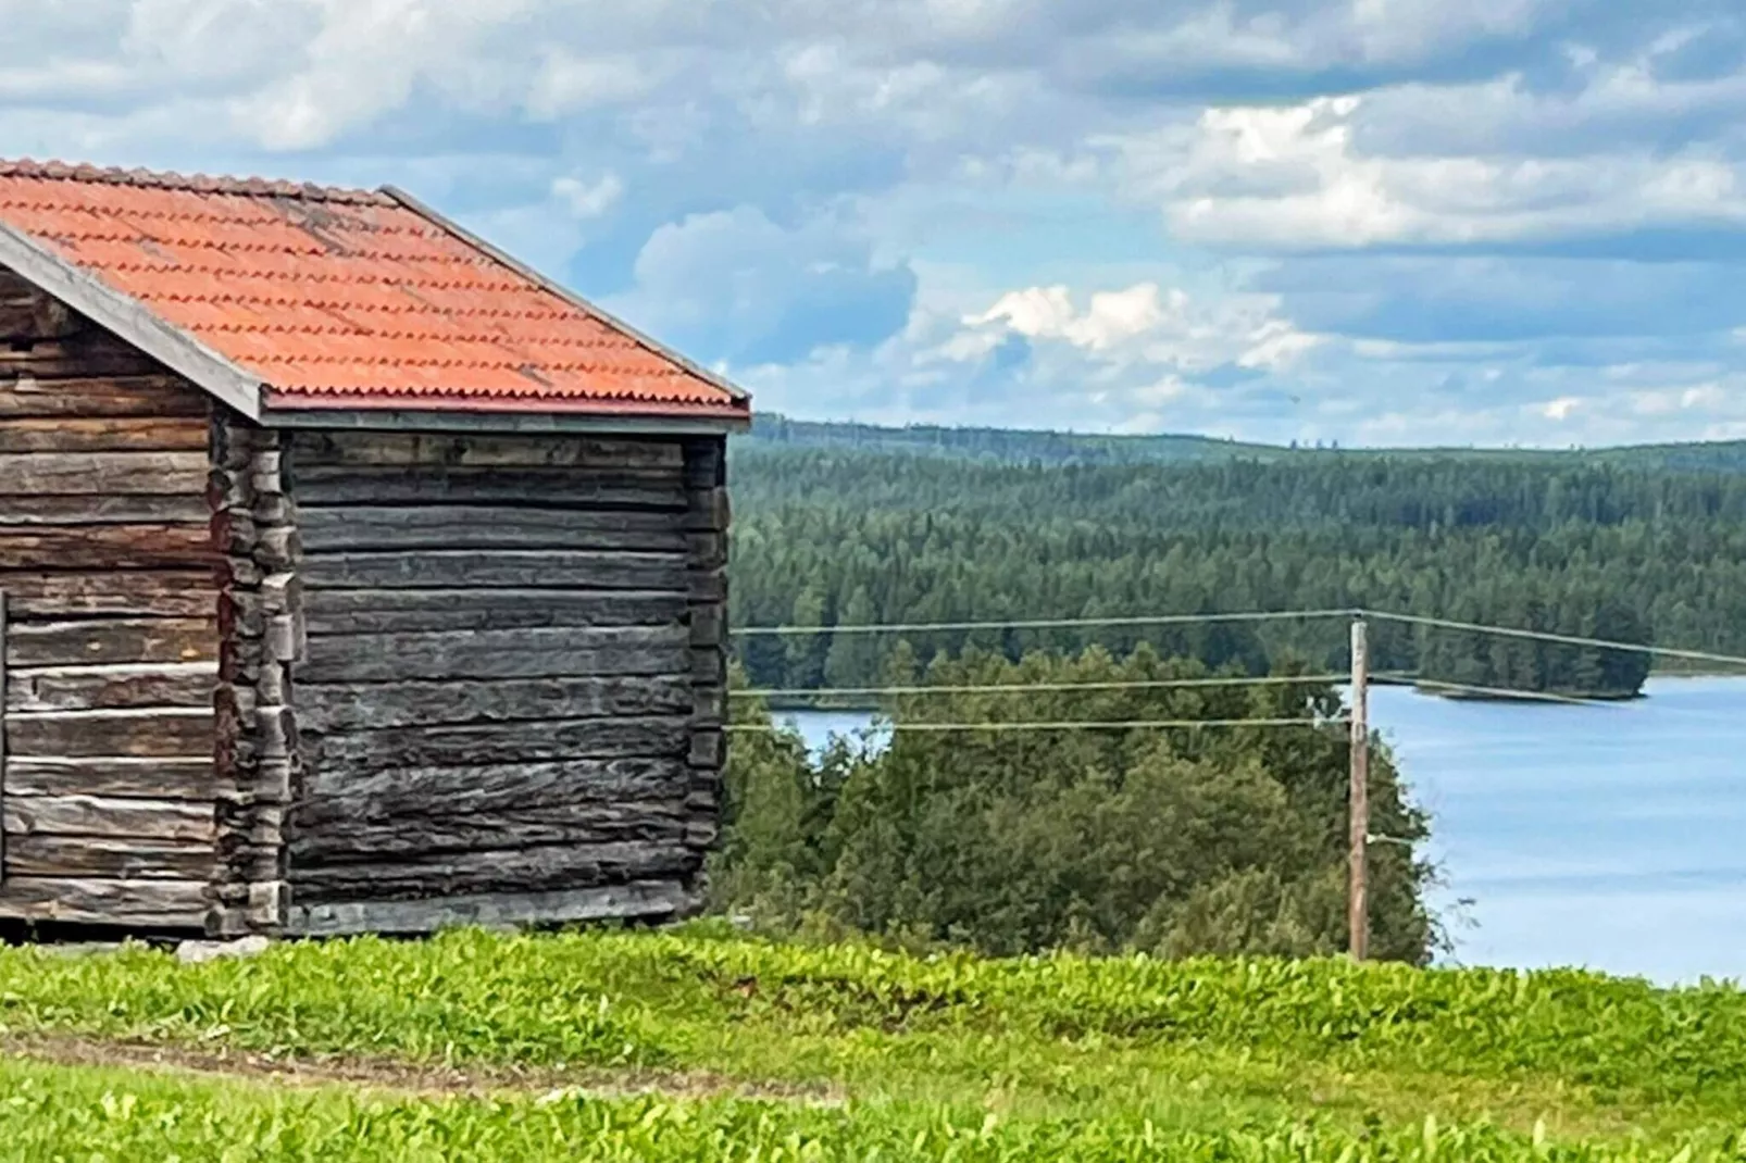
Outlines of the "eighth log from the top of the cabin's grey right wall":
{"type": "Polygon", "coordinates": [[[683,756],[690,746],[690,730],[683,716],[604,718],[396,726],[347,735],[311,735],[304,744],[313,753],[316,770],[377,772],[389,767],[683,756]]]}

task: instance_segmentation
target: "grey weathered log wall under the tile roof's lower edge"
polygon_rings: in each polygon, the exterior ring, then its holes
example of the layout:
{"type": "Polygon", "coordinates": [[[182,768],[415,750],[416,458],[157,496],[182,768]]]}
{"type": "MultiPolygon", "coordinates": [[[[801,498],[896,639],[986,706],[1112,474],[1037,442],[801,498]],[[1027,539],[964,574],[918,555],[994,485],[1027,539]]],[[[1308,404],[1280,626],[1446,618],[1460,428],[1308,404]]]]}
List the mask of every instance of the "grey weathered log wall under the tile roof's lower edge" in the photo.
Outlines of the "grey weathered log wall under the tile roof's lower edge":
{"type": "Polygon", "coordinates": [[[721,445],[290,437],[292,931],[690,908],[723,751],[721,445]]]}

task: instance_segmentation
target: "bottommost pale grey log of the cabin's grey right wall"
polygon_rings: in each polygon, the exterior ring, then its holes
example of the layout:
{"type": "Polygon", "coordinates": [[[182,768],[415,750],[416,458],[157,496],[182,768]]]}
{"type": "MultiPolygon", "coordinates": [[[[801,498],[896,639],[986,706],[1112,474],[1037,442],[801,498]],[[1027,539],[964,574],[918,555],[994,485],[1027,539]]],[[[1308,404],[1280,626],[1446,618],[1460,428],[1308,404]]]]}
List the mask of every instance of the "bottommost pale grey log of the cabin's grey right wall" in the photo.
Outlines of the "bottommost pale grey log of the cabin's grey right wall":
{"type": "Polygon", "coordinates": [[[452,926],[536,926],[609,919],[670,919],[697,910],[697,898],[670,880],[573,889],[450,896],[436,901],[335,901],[292,906],[293,936],[351,932],[436,932],[452,926]]]}

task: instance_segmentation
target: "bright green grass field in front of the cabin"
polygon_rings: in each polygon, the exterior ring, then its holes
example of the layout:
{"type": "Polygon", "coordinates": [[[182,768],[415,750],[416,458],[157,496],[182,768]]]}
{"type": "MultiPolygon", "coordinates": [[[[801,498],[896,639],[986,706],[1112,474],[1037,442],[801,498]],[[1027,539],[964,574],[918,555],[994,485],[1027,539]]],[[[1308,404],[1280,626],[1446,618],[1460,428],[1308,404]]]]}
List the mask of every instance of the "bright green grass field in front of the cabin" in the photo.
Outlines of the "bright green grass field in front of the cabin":
{"type": "Polygon", "coordinates": [[[705,929],[17,948],[0,1039],[0,1158],[1746,1160],[1746,994],[1573,973],[705,929]]]}

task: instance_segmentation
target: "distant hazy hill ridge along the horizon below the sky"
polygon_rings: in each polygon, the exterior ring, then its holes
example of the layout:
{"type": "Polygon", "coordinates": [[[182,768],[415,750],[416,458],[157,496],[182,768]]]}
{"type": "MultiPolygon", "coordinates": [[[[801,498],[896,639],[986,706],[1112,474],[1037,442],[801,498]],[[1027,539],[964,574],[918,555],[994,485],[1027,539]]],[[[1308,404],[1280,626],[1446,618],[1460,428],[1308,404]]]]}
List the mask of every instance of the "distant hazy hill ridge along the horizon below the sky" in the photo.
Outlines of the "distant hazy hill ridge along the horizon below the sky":
{"type": "Polygon", "coordinates": [[[1240,444],[1191,435],[1095,435],[1013,428],[941,428],[794,421],[758,416],[744,449],[904,452],[1000,465],[1184,465],[1205,461],[1287,461],[1341,454],[1358,459],[1461,459],[1472,463],[1531,461],[1549,465],[1608,463],[1624,468],[1746,471],[1746,440],[1655,444],[1598,451],[1533,449],[1330,449],[1240,444]]]}

